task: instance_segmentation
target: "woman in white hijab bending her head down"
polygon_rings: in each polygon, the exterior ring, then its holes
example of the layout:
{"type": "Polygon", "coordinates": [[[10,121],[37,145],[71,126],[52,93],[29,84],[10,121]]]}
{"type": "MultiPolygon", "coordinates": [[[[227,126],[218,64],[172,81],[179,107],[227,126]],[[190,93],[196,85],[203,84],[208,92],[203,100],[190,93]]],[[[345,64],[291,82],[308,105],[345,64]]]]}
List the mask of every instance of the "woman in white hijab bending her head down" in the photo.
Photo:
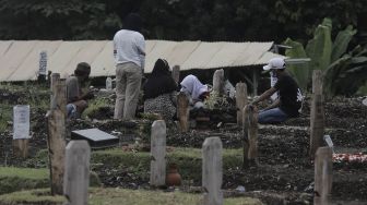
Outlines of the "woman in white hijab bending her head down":
{"type": "Polygon", "coordinates": [[[186,76],[180,84],[181,92],[185,92],[190,96],[190,102],[194,108],[204,106],[203,101],[209,96],[209,88],[206,85],[203,85],[194,75],[186,76]]]}

